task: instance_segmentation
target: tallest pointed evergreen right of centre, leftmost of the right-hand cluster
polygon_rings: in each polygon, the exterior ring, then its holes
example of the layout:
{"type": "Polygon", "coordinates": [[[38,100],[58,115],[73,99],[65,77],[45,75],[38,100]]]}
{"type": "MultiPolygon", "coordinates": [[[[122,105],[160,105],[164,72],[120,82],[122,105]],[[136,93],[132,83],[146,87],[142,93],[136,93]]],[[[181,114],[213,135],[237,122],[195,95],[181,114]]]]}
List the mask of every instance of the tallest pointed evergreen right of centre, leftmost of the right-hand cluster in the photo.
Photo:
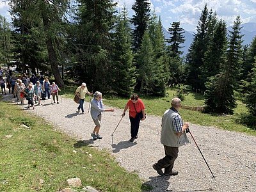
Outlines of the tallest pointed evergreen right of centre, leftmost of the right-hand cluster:
{"type": "Polygon", "coordinates": [[[203,60],[209,40],[209,36],[207,36],[209,28],[209,12],[206,4],[196,28],[196,34],[194,35],[193,42],[189,47],[189,52],[186,57],[189,68],[188,84],[192,86],[192,90],[202,91],[204,83],[200,81],[200,76],[202,75],[201,69],[204,67],[203,60]]]}

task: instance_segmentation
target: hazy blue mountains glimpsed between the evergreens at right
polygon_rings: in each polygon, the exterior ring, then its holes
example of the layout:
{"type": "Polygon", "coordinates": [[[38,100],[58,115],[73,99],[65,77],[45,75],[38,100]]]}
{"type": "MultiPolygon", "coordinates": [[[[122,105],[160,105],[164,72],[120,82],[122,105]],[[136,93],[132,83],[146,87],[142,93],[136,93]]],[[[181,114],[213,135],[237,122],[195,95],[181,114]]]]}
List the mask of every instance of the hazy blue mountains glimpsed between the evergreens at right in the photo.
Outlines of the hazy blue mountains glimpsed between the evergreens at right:
{"type": "MultiPolygon", "coordinates": [[[[256,36],[256,23],[254,22],[248,22],[245,24],[241,24],[241,26],[243,27],[241,29],[241,34],[243,34],[243,45],[250,45],[253,38],[256,36]]],[[[170,38],[170,34],[168,33],[167,29],[163,29],[164,30],[164,36],[165,38],[170,38]]],[[[232,30],[232,27],[228,27],[228,30],[232,30]]],[[[188,48],[191,45],[192,41],[193,41],[193,31],[186,31],[183,34],[185,37],[185,42],[182,46],[184,46],[181,51],[184,51],[183,55],[186,55],[188,53],[188,48]]]]}

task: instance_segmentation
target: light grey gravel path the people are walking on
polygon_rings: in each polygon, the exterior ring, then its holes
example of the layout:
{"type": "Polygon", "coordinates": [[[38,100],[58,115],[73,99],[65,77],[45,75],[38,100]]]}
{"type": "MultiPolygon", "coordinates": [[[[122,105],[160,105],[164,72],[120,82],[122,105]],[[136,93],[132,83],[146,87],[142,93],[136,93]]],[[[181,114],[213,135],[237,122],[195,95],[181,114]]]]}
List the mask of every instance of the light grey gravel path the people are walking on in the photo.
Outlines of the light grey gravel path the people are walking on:
{"type": "MultiPolygon", "coordinates": [[[[4,97],[8,99],[8,96],[4,97]]],[[[60,104],[51,104],[51,99],[42,104],[29,113],[42,116],[77,141],[83,140],[99,149],[109,150],[121,166],[129,172],[137,172],[147,184],[154,186],[152,191],[256,191],[256,137],[191,124],[190,131],[216,177],[212,179],[190,135],[190,144],[179,148],[179,157],[175,161],[174,168],[179,175],[161,177],[152,168],[152,164],[164,156],[163,145],[159,141],[161,117],[147,115],[147,119],[141,122],[138,140],[131,143],[128,115],[111,137],[123,110],[105,112],[100,129],[103,139],[93,141],[90,134],[94,124],[88,113],[88,102],[84,103],[84,115],[77,114],[77,104],[64,97],[60,104]]]]}

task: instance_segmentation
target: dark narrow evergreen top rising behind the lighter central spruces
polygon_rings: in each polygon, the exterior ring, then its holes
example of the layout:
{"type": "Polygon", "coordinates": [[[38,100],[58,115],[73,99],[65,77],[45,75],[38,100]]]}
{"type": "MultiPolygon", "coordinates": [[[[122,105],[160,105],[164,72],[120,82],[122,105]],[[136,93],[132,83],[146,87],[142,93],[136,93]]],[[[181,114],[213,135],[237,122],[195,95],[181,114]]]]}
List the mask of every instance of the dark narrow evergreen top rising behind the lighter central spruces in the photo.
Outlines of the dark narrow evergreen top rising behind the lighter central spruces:
{"type": "Polygon", "coordinates": [[[150,19],[150,3],[147,0],[136,0],[132,5],[135,15],[132,16],[131,22],[134,25],[132,31],[133,49],[137,52],[140,49],[142,37],[148,28],[150,19]]]}

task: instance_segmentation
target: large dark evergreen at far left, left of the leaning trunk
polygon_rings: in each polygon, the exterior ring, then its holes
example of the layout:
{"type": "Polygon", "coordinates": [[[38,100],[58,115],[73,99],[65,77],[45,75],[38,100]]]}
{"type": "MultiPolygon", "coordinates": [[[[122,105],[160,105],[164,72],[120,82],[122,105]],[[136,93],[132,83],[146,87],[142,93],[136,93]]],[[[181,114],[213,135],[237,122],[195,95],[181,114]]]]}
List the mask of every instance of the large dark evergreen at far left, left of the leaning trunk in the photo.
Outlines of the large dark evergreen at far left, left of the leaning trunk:
{"type": "Polygon", "coordinates": [[[27,73],[29,68],[35,74],[38,70],[47,70],[45,65],[45,42],[42,20],[33,1],[11,1],[13,19],[13,52],[17,68],[27,73]]]}

